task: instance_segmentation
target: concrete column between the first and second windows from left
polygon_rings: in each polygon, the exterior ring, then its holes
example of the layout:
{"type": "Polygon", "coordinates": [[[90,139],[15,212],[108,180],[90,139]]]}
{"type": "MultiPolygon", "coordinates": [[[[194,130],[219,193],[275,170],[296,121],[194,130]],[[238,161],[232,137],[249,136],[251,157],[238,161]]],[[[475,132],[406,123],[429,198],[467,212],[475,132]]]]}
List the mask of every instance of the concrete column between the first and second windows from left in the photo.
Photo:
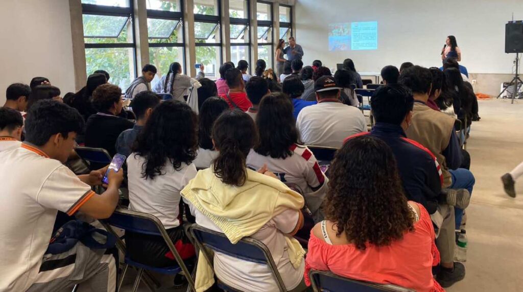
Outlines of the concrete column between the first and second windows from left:
{"type": "Polygon", "coordinates": [[[134,31],[136,33],[136,63],[138,75],[149,64],[149,31],[147,31],[147,6],[145,1],[134,0],[134,31]]]}

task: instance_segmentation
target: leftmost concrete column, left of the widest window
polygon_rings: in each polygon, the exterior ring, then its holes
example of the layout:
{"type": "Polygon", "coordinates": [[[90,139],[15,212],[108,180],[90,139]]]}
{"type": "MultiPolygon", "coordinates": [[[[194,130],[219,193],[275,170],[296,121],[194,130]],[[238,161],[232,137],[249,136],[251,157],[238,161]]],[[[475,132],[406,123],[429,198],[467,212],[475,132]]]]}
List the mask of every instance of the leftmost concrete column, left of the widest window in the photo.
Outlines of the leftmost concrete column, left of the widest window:
{"type": "Polygon", "coordinates": [[[69,0],[69,9],[71,11],[71,37],[73,41],[74,86],[78,91],[87,82],[81,0],[69,0]]]}

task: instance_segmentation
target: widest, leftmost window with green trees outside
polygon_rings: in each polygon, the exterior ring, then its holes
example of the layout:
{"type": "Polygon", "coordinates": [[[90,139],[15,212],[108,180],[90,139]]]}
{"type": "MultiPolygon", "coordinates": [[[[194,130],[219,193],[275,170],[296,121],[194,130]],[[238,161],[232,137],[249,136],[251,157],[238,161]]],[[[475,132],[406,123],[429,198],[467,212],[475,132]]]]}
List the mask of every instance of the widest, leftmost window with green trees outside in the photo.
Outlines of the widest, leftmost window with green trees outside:
{"type": "Polygon", "coordinates": [[[136,76],[133,8],[128,0],[82,0],[87,76],[106,70],[127,88],[136,76]]]}

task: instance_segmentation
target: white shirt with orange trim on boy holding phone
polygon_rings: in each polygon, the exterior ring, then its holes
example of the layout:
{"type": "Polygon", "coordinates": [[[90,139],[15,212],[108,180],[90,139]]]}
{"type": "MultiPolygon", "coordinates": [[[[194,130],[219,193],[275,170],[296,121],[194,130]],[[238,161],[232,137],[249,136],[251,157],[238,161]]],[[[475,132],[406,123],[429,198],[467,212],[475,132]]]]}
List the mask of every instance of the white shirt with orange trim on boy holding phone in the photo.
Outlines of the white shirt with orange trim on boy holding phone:
{"type": "Polygon", "coordinates": [[[35,283],[56,212],[72,216],[95,193],[27,143],[0,152],[0,177],[0,291],[25,291],[35,283]]]}

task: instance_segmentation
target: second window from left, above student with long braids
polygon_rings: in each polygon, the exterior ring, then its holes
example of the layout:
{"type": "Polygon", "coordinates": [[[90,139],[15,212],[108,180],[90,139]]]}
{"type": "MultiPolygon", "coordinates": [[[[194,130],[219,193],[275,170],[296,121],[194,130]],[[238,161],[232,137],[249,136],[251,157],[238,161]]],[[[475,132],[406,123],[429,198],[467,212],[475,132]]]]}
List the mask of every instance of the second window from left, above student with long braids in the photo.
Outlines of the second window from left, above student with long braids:
{"type": "Polygon", "coordinates": [[[179,0],[146,0],[149,62],[157,73],[151,86],[154,88],[169,72],[173,62],[185,68],[184,19],[179,0]]]}

